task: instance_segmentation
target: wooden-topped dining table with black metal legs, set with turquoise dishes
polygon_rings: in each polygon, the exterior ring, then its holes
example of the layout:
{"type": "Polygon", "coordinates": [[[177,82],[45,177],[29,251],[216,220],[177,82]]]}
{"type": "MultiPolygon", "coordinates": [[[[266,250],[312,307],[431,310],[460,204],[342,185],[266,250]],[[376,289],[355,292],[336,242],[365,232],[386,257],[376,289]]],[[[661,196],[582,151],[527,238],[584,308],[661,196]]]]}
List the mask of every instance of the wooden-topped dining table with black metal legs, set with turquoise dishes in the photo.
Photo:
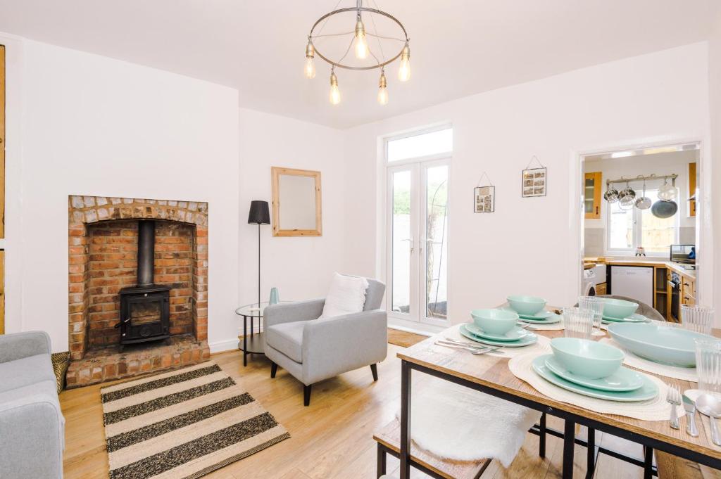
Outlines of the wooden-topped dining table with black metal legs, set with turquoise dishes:
{"type": "MultiPolygon", "coordinates": [[[[557,308],[547,306],[547,310],[557,308]]],[[[430,336],[414,346],[403,349],[397,353],[401,359],[401,413],[400,413],[400,479],[410,478],[412,465],[411,451],[411,408],[412,408],[412,372],[422,372],[426,375],[438,377],[441,380],[454,382],[457,385],[471,388],[488,395],[508,400],[527,408],[540,411],[541,421],[529,432],[539,435],[539,455],[545,455],[547,435],[562,438],[563,460],[562,478],[573,477],[573,452],[575,444],[587,448],[586,476],[593,477],[598,454],[610,455],[617,459],[630,462],[643,467],[644,478],[650,479],[657,474],[653,466],[653,450],[667,452],[668,454],[684,458],[714,469],[721,469],[721,447],[713,444],[708,418],[696,413],[696,424],[699,426],[698,437],[691,437],[686,433],[686,420],[681,419],[681,428],[672,429],[668,420],[644,421],[627,416],[599,413],[578,404],[554,400],[540,393],[510,371],[507,354],[481,354],[474,355],[459,349],[435,344],[436,341],[446,338],[458,341],[468,341],[459,333],[456,324],[445,331],[430,336]],[[546,425],[547,416],[555,416],[563,421],[562,431],[551,429],[546,425]],[[576,426],[588,428],[587,439],[576,437],[576,426]],[[642,458],[631,457],[613,449],[600,447],[595,443],[595,433],[601,431],[628,441],[641,444],[644,449],[642,458]]],[[[534,331],[549,339],[564,336],[564,331],[534,331]]],[[[721,337],[720,330],[713,331],[714,336],[721,337]]],[[[608,337],[608,336],[603,336],[608,337]]],[[[599,336],[592,336],[594,340],[599,336]]],[[[510,348],[505,348],[508,350],[510,348]]],[[[503,351],[503,350],[501,350],[503,351]]],[[[632,368],[633,369],[633,368],[632,368]]],[[[678,380],[672,377],[654,375],[667,385],[677,385],[681,392],[696,388],[695,382],[678,380]]],[[[438,411],[442,414],[443,411],[438,411]]]]}

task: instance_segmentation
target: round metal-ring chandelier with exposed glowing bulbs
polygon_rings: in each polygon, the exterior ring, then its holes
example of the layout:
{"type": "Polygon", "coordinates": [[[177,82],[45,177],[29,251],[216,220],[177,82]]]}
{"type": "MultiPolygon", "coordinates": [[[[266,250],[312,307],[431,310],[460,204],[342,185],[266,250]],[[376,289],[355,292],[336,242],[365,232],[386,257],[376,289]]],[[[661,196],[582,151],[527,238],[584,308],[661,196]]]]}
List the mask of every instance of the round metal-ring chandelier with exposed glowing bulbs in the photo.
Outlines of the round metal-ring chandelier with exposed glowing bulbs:
{"type": "MultiPolygon", "coordinates": [[[[372,1],[372,0],[371,0],[372,1]]],[[[313,27],[311,27],[311,32],[308,35],[308,43],[306,45],[306,65],[305,65],[305,73],[306,77],[309,79],[315,78],[316,74],[316,68],[314,59],[316,55],[321,58],[322,60],[326,61],[330,65],[330,94],[329,99],[332,104],[339,104],[340,103],[340,89],[338,88],[338,77],[335,74],[335,68],[345,68],[346,70],[355,70],[355,71],[364,71],[364,70],[373,70],[376,68],[380,68],[381,70],[381,76],[378,82],[378,102],[379,104],[386,104],[388,103],[388,81],[386,80],[386,71],[385,67],[386,65],[389,65],[389,63],[393,63],[397,59],[400,58],[399,62],[399,68],[398,68],[398,79],[399,81],[408,81],[410,79],[410,48],[408,46],[409,39],[408,34],[406,33],[405,27],[399,20],[395,17],[393,17],[391,14],[388,14],[386,12],[382,12],[377,8],[369,8],[368,6],[363,6],[362,0],[357,0],[355,6],[348,7],[348,8],[342,8],[333,10],[332,12],[329,12],[327,14],[324,14],[322,17],[317,19],[317,21],[313,24],[313,27]],[[353,12],[355,13],[355,28],[353,30],[350,30],[349,32],[340,32],[340,33],[328,33],[325,35],[322,35],[323,27],[325,26],[326,22],[330,17],[333,17],[334,15],[344,14],[345,12],[353,12]],[[366,30],[366,23],[363,22],[363,18],[370,19],[370,25],[373,26],[373,31],[366,30]],[[400,31],[402,32],[402,37],[392,37],[389,35],[380,35],[378,30],[376,29],[376,22],[375,19],[373,19],[373,15],[380,15],[382,17],[386,17],[387,19],[390,19],[393,24],[396,24],[400,31]],[[317,31],[316,31],[317,30],[317,31]],[[345,44],[345,38],[350,36],[350,42],[348,42],[348,48],[345,48],[345,53],[340,56],[337,60],[333,60],[332,58],[329,58],[329,56],[324,55],[321,53],[321,51],[318,49],[316,45],[316,40],[319,40],[321,38],[332,38],[334,40],[343,40],[345,44]],[[376,53],[371,50],[370,45],[368,44],[368,37],[374,37],[376,39],[376,42],[378,44],[379,50],[377,50],[376,53]],[[381,40],[395,40],[399,42],[402,45],[402,48],[400,51],[398,51],[392,58],[386,59],[384,52],[383,52],[383,46],[381,45],[381,40]],[[355,58],[357,58],[360,61],[372,61],[370,65],[366,66],[353,66],[349,65],[348,63],[343,63],[345,61],[346,56],[348,56],[348,53],[350,53],[350,50],[353,49],[355,53],[355,58]],[[380,56],[380,58],[379,58],[380,56]],[[371,57],[371,58],[369,58],[371,57]]],[[[394,53],[397,50],[394,50],[394,53]]]]}

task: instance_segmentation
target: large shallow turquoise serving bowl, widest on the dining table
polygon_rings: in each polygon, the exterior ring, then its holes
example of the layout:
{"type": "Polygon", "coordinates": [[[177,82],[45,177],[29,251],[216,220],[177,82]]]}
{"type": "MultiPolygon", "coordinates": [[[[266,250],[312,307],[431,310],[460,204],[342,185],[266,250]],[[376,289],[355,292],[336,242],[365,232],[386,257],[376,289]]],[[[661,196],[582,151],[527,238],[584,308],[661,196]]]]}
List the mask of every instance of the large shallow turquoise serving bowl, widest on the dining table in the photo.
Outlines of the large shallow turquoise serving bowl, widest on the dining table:
{"type": "Polygon", "coordinates": [[[696,339],[714,339],[688,329],[650,323],[611,323],[609,334],[637,356],[681,367],[696,367],[696,339]]]}

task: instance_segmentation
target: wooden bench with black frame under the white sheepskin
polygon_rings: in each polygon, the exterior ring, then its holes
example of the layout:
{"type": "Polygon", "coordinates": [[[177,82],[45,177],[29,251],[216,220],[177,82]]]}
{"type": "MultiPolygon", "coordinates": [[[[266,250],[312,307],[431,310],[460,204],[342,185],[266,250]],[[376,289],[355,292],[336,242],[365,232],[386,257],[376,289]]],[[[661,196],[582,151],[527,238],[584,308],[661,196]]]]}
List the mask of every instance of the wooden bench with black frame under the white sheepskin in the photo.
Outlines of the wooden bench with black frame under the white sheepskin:
{"type": "MultiPolygon", "coordinates": [[[[378,478],[386,474],[386,454],[399,457],[401,444],[401,428],[398,421],[393,420],[381,431],[373,434],[378,443],[378,478]]],[[[443,460],[418,449],[411,444],[410,460],[412,467],[423,471],[437,479],[478,479],[490,464],[490,459],[478,461],[451,461],[443,460]]]]}

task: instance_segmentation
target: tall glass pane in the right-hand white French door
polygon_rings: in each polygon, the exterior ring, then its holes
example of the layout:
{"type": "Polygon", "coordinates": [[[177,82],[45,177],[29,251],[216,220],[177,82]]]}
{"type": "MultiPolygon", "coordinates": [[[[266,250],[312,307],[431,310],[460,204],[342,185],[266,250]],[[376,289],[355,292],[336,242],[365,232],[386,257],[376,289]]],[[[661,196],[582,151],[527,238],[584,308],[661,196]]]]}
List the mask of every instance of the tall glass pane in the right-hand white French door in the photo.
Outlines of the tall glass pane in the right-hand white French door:
{"type": "Polygon", "coordinates": [[[448,166],[426,170],[425,315],[446,319],[448,306],[448,166]]]}

